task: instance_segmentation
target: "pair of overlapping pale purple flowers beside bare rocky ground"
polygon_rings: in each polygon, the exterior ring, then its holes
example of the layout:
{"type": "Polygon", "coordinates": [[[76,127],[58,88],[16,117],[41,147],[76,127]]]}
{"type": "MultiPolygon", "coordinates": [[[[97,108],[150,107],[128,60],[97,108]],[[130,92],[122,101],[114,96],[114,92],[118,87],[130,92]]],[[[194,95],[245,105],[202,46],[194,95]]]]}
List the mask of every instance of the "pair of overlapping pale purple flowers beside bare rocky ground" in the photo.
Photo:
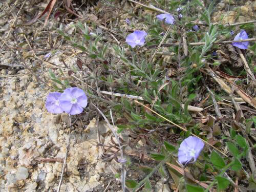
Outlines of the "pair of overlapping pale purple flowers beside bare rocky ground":
{"type": "Polygon", "coordinates": [[[46,99],[46,109],[55,114],[80,114],[86,106],[87,96],[79,88],[68,88],[63,93],[50,93],[46,99]]]}

